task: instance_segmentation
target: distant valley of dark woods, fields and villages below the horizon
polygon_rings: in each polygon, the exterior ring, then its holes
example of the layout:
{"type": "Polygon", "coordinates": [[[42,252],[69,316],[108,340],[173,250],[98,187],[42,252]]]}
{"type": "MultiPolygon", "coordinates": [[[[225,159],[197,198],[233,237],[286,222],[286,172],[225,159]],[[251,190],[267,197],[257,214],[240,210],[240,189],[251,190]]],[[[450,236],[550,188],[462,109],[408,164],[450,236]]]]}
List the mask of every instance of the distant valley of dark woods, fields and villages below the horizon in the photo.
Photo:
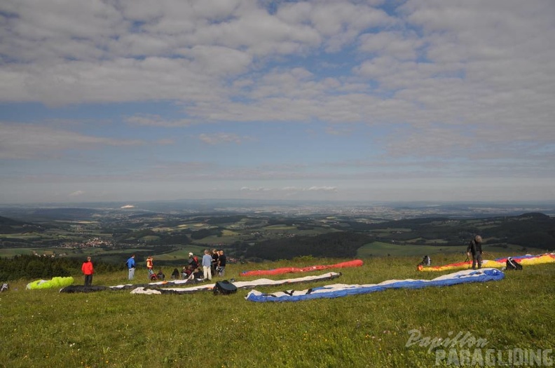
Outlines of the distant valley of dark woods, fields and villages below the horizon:
{"type": "Polygon", "coordinates": [[[0,207],[0,257],[36,254],[118,264],[182,264],[188,252],[235,261],[464,252],[474,234],[491,252],[555,249],[554,206],[284,203],[234,200],[0,207]]]}

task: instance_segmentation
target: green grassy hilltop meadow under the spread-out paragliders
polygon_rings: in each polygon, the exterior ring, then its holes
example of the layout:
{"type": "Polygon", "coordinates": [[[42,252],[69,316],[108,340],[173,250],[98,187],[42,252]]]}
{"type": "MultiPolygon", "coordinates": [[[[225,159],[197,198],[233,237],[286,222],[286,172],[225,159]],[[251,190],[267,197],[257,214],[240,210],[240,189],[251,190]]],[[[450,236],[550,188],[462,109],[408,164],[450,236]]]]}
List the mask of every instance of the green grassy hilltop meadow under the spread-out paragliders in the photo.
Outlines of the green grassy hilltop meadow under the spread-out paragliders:
{"type": "MultiPolygon", "coordinates": [[[[434,263],[458,258],[436,255],[434,263]]],[[[226,278],[252,280],[240,272],[338,261],[345,259],[229,265],[226,278]]],[[[418,273],[420,259],[415,257],[364,261],[360,268],[329,270],[343,273],[333,282],[259,290],[431,279],[448,273],[418,273]]],[[[500,282],[261,304],[245,301],[247,290],[242,289],[218,297],[210,292],[60,294],[57,289],[26,290],[32,280],[20,280],[0,294],[0,366],[432,367],[436,355],[429,346],[420,346],[425,341],[406,347],[409,331],[415,329],[428,339],[470,332],[475,339],[485,339],[489,349],[551,349],[554,275],[555,264],[525,266],[507,272],[500,282]]],[[[95,275],[93,285],[127,283],[126,276],[125,271],[95,275]]],[[[81,284],[81,275],[74,277],[81,284]]],[[[135,282],[146,282],[146,270],[137,270],[135,282]]],[[[448,366],[446,361],[441,365],[448,366]]]]}

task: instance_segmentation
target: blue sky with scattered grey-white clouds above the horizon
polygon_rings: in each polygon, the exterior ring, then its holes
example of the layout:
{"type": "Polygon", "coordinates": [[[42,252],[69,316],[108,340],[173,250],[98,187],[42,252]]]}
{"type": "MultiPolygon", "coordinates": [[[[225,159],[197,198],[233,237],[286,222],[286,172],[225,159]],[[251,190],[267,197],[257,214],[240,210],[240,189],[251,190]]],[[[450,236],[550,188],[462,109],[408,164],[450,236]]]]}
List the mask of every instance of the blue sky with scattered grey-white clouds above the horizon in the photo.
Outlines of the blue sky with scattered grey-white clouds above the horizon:
{"type": "Polygon", "coordinates": [[[3,0],[0,203],[555,200],[555,1],[3,0]]]}

